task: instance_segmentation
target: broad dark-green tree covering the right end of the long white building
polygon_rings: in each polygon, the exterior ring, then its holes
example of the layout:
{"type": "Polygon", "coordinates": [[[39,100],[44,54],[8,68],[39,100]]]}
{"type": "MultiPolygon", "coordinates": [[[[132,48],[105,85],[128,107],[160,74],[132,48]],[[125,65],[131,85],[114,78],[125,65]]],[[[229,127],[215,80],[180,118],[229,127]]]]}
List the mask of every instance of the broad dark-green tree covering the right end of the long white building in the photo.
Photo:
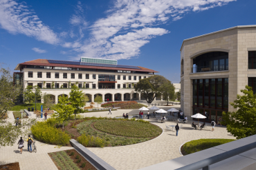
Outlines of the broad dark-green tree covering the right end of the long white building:
{"type": "Polygon", "coordinates": [[[143,94],[147,103],[152,103],[156,96],[161,95],[161,85],[165,82],[167,79],[160,75],[143,78],[135,85],[135,91],[143,94]]]}

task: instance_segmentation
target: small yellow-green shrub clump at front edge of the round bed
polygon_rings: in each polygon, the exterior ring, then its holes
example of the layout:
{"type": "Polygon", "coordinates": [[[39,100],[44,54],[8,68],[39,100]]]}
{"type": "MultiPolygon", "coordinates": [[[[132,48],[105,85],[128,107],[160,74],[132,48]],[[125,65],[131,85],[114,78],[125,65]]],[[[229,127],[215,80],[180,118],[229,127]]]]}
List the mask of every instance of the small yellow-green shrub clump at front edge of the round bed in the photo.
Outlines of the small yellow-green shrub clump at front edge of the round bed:
{"type": "Polygon", "coordinates": [[[82,134],[77,138],[77,141],[84,147],[104,147],[104,140],[98,137],[82,134]]]}

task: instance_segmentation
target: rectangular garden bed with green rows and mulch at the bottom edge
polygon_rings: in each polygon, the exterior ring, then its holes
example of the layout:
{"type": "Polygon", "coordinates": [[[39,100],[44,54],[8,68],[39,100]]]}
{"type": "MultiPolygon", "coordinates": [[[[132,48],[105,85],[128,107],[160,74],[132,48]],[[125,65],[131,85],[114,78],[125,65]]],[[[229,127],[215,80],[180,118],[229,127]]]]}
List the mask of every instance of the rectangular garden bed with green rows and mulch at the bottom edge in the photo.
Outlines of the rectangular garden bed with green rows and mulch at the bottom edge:
{"type": "Polygon", "coordinates": [[[60,170],[82,169],[96,170],[93,165],[80,155],[75,149],[48,153],[56,167],[60,170]]]}

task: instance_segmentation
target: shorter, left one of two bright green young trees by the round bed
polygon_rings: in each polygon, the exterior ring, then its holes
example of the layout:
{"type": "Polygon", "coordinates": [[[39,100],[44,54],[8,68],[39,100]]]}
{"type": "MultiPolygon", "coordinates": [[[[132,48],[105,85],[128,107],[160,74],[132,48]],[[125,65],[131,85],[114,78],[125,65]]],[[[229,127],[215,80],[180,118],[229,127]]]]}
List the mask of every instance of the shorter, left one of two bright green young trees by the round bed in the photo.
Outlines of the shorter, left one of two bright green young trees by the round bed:
{"type": "Polygon", "coordinates": [[[59,103],[54,106],[57,113],[53,113],[53,118],[56,118],[58,122],[62,123],[62,129],[64,129],[64,122],[74,113],[75,108],[72,105],[68,105],[68,96],[59,96],[59,103]]]}

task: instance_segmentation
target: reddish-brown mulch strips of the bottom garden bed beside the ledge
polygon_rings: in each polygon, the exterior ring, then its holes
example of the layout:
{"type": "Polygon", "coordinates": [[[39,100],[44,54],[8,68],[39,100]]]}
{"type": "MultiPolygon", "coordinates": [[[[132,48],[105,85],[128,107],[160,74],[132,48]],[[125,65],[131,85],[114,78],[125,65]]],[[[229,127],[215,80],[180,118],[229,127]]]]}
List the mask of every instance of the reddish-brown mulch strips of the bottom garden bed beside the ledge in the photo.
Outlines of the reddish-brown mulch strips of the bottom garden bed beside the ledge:
{"type": "MultiPolygon", "coordinates": [[[[73,160],[73,162],[75,162],[75,164],[77,164],[77,167],[79,167],[80,169],[82,169],[82,170],[88,170],[88,169],[97,170],[97,169],[95,169],[95,167],[93,167],[93,165],[88,160],[86,160],[83,156],[81,156],[80,153],[78,153],[75,149],[66,150],[65,152],[68,154],[68,156],[71,158],[71,160],[73,160]],[[73,156],[70,156],[72,152],[74,152],[75,154],[73,156]],[[77,163],[77,159],[75,158],[75,156],[77,156],[77,155],[81,159],[80,163],[77,163]],[[81,167],[82,163],[84,163],[84,162],[85,162],[85,167],[81,167]]],[[[52,158],[52,160],[53,160],[53,158],[52,158]]],[[[58,167],[57,163],[54,160],[53,160],[53,162],[55,163],[57,169],[62,170],[60,167],[58,167]]]]}

